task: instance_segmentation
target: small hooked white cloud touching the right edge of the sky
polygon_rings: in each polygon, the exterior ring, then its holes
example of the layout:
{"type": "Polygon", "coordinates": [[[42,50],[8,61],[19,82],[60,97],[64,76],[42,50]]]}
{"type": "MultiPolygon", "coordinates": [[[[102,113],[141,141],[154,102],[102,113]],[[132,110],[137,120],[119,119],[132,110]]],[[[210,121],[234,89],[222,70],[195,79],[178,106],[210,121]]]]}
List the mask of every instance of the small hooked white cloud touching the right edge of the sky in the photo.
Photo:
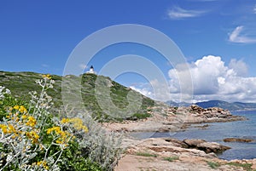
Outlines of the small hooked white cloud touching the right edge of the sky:
{"type": "Polygon", "coordinates": [[[256,38],[241,35],[242,30],[243,26],[237,26],[236,29],[231,32],[229,37],[231,43],[256,43],[256,38]]]}

